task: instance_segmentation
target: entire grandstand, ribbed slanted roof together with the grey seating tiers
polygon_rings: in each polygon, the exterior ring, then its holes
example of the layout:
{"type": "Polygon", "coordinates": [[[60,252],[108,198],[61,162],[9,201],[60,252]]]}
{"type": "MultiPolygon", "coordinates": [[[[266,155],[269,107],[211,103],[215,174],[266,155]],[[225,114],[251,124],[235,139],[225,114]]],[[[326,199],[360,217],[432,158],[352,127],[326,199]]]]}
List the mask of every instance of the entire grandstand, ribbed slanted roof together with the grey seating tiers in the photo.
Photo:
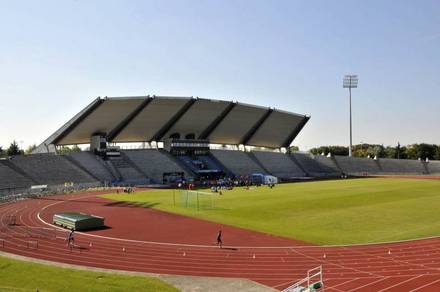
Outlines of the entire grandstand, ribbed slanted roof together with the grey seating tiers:
{"type": "Polygon", "coordinates": [[[198,184],[253,174],[294,181],[440,173],[440,161],[290,153],[289,146],[309,118],[193,97],[96,98],[32,155],[0,160],[0,192],[66,184],[198,184]],[[84,147],[82,152],[59,154],[66,145],[84,147]]]}

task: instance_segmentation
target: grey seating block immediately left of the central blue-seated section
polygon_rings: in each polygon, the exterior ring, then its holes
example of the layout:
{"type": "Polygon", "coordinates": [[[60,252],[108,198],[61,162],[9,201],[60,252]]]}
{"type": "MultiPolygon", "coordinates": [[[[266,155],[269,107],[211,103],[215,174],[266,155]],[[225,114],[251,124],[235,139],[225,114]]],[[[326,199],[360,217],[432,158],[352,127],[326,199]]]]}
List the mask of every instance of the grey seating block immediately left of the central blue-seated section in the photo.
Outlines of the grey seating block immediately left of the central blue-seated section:
{"type": "Polygon", "coordinates": [[[156,183],[162,183],[164,172],[184,172],[185,177],[192,176],[161,150],[125,150],[123,153],[156,183]]]}

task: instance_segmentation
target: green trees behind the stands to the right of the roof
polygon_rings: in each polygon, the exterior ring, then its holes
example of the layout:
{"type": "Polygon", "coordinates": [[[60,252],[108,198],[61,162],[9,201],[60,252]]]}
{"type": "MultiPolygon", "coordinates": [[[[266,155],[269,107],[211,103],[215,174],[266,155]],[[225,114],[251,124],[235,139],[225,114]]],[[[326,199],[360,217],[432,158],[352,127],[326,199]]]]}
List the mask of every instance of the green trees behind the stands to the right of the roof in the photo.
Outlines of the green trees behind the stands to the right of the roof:
{"type": "MultiPolygon", "coordinates": [[[[348,155],[348,147],[345,146],[320,146],[309,150],[314,155],[324,153],[327,155],[348,155]]],[[[440,145],[435,144],[411,144],[401,146],[383,146],[379,144],[357,144],[353,145],[352,154],[354,157],[377,157],[395,159],[429,159],[440,160],[440,145]]]]}

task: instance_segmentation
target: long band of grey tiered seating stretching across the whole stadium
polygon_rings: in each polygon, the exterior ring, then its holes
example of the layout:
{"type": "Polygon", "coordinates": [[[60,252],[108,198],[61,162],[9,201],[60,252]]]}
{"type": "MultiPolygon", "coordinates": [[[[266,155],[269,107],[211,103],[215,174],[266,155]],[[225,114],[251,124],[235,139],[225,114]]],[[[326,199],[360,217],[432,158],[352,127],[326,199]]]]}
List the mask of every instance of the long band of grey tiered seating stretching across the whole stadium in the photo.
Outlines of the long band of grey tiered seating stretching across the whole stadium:
{"type": "Polygon", "coordinates": [[[35,154],[0,160],[0,191],[28,188],[31,185],[56,186],[65,182],[162,183],[164,173],[223,171],[238,176],[268,173],[281,179],[301,177],[338,177],[348,175],[440,175],[440,161],[405,159],[373,160],[347,156],[312,156],[295,152],[211,150],[208,155],[174,157],[165,150],[124,150],[120,157],[107,161],[90,152],[67,155],[35,154]],[[288,156],[290,155],[290,157],[288,156]],[[203,165],[203,167],[202,167],[203,165]]]}

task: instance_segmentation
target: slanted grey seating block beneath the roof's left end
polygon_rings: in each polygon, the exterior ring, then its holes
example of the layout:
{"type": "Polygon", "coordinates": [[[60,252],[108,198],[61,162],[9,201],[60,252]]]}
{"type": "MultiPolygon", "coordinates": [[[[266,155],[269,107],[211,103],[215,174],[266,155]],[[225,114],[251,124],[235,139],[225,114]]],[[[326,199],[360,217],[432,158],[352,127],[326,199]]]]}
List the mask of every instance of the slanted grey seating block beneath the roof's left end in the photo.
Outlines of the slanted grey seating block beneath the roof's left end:
{"type": "Polygon", "coordinates": [[[73,152],[67,155],[96,176],[101,182],[112,182],[116,179],[110,170],[107,169],[104,161],[89,151],[73,152]]]}

